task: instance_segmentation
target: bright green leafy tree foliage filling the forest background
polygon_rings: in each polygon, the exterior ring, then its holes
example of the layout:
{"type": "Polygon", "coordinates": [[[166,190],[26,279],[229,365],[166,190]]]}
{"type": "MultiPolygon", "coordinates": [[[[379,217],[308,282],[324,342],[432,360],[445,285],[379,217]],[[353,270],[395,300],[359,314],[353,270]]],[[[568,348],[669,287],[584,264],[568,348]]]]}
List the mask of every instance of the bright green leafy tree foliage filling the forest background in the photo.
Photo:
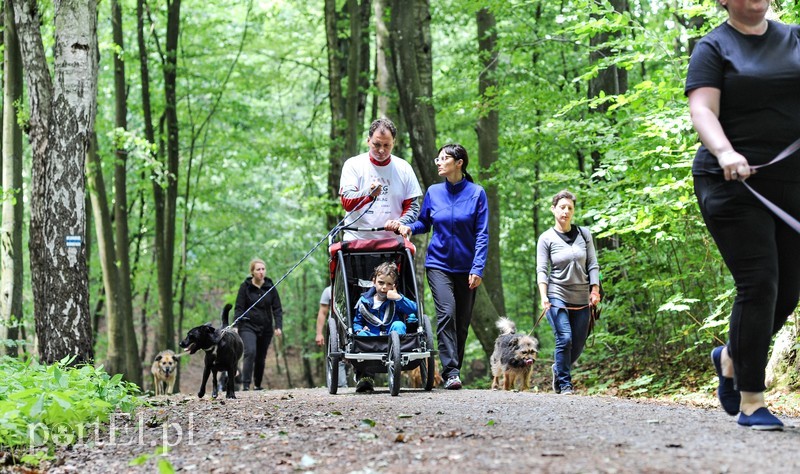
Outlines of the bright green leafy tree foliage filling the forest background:
{"type": "MultiPolygon", "coordinates": [[[[165,137],[143,138],[135,2],[122,6],[124,45],[111,39],[110,4],[99,7],[98,153],[108,177],[114,151],[128,152],[134,305],[152,330],[158,305],[152,190],[165,179],[153,154],[165,137]],[[123,58],[129,85],[124,132],[114,121],[114,56],[123,58]]],[[[776,7],[796,22],[796,2],[776,7]]],[[[165,12],[163,5],[151,12],[145,34],[157,130],[165,12]]],[[[52,49],[52,14],[43,9],[45,51],[52,49]]],[[[697,374],[708,371],[709,344],[725,338],[734,292],[693,196],[697,138],[683,81],[690,41],[719,24],[724,12],[712,0],[629,2],[619,13],[595,0],[441,0],[431,2],[431,15],[437,143],[464,144],[477,170],[475,124],[490,106],[500,112],[500,159],[472,174],[498,189],[500,235],[491,238],[500,242],[506,315],[520,328],[533,327],[540,310],[536,239],[552,222],[550,196],[570,188],[579,198],[577,223],[591,226],[597,239],[607,292],[595,344],[581,359],[581,380],[590,390],[630,394],[702,388],[707,380],[697,374]],[[497,19],[497,86],[487,97],[478,96],[478,77],[488,73],[477,55],[481,8],[497,19]],[[590,82],[609,68],[627,73],[627,87],[590,94],[590,82]]],[[[176,274],[187,281],[185,330],[216,321],[251,258],[265,259],[277,280],[325,235],[327,217],[341,217],[342,210],[327,184],[330,113],[319,5],[221,0],[181,21],[176,253],[185,259],[176,255],[176,274]]],[[[24,106],[15,107],[26,122],[24,106]]],[[[106,185],[110,192],[113,180],[106,185]]],[[[3,198],[13,197],[5,191],[3,198]]],[[[95,299],[102,279],[96,248],[89,254],[95,299]]],[[[317,251],[279,288],[285,343],[311,347],[297,352],[315,361],[321,352],[313,346],[314,316],[327,264],[326,252],[317,251]]],[[[27,297],[28,318],[30,304],[27,297]]],[[[536,331],[547,357],[549,327],[536,331]]],[[[103,338],[101,332],[99,353],[103,338]]],[[[470,341],[467,362],[475,358],[487,355],[470,341]]],[[[47,397],[43,404],[60,406],[47,397]]]]}

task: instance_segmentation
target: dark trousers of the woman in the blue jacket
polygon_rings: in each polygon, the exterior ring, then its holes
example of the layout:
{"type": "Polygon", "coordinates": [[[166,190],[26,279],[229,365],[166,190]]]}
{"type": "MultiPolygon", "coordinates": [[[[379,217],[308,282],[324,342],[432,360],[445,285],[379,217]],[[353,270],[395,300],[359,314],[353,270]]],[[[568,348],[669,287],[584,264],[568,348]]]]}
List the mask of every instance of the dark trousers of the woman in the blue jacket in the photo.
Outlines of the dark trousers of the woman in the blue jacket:
{"type": "Polygon", "coordinates": [[[464,347],[472,321],[475,290],[469,289],[469,274],[428,268],[428,286],[436,306],[436,336],[442,378],[459,375],[464,362],[464,347]]]}

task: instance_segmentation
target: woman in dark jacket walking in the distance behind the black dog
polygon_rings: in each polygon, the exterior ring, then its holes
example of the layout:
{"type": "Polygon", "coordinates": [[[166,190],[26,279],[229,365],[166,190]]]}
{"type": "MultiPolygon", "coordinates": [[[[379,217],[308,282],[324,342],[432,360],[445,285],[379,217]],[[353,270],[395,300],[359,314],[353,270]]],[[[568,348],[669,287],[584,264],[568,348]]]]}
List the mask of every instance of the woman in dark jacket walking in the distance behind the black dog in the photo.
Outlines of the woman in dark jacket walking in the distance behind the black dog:
{"type": "Polygon", "coordinates": [[[246,313],[236,323],[244,342],[242,390],[250,390],[251,380],[255,382],[254,390],[261,390],[269,343],[273,334],[281,335],[283,327],[281,298],[278,290],[273,289],[272,280],[266,278],[266,271],[263,260],[253,259],[250,262],[250,276],[245,278],[236,296],[236,318],[246,313]],[[264,296],[267,292],[269,294],[264,296]]]}

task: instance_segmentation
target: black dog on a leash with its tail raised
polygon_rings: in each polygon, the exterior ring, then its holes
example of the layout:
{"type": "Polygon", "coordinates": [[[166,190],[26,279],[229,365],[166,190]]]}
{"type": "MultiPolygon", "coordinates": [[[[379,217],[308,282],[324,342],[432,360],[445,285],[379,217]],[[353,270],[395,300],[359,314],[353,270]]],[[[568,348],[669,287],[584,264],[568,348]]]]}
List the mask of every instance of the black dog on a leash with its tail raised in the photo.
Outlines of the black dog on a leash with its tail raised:
{"type": "Polygon", "coordinates": [[[206,394],[206,383],[208,375],[213,374],[211,398],[217,398],[217,371],[228,373],[228,384],[226,387],[225,398],[236,398],[234,392],[234,378],[236,377],[236,367],[239,359],[244,352],[244,344],[239,333],[233,328],[228,328],[228,313],[232,306],[226,304],[222,309],[222,328],[214,329],[211,323],[197,326],[190,329],[186,338],[180,342],[183,350],[194,354],[202,349],[206,353],[205,368],[203,368],[203,382],[200,384],[200,391],[197,396],[203,398],[206,394]]]}

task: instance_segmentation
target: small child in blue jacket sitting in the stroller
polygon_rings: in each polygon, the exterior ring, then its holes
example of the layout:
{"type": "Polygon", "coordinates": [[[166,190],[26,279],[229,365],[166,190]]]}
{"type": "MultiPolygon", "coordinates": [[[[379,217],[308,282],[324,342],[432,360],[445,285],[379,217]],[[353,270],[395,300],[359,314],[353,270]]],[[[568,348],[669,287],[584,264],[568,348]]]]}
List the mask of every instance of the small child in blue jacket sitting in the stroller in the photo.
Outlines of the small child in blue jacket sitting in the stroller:
{"type": "MultiPolygon", "coordinates": [[[[397,265],[392,262],[383,262],[375,268],[372,288],[356,304],[353,331],[357,336],[382,336],[392,331],[404,335],[406,322],[417,322],[417,303],[398,293],[395,289],[397,277],[397,265]]],[[[373,391],[373,376],[366,371],[357,371],[356,392],[373,391]]]]}

